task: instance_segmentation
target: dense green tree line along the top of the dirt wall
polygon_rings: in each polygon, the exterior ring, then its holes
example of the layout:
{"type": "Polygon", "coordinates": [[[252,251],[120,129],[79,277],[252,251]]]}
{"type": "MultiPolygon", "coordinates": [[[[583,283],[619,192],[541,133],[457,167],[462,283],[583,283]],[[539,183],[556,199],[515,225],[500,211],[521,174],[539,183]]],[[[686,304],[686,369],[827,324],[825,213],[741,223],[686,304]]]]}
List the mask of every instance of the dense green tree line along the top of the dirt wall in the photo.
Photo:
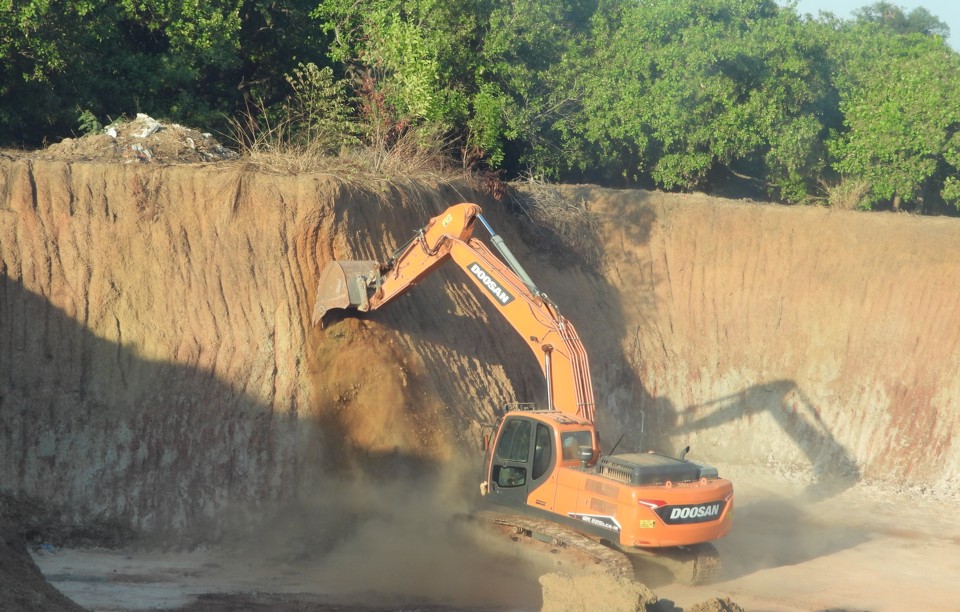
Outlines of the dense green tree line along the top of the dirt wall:
{"type": "Polygon", "coordinates": [[[331,152],[412,138],[507,177],[956,214],[947,36],[886,2],[0,0],[0,145],[293,108],[331,152]]]}

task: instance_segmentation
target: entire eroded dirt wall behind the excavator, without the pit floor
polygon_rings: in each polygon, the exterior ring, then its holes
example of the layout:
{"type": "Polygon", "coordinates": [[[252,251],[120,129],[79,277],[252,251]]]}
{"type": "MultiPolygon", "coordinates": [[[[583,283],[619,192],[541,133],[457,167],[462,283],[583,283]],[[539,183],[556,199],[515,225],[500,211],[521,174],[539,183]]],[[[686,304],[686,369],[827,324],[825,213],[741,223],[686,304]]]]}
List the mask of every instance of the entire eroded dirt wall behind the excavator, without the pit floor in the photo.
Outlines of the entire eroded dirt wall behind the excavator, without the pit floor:
{"type": "Polygon", "coordinates": [[[202,540],[346,470],[478,461],[543,385],[456,270],[310,325],[323,263],[468,200],[577,324],[608,445],[956,491],[960,223],[564,196],[582,252],[464,185],[0,157],[0,491],[202,540]]]}

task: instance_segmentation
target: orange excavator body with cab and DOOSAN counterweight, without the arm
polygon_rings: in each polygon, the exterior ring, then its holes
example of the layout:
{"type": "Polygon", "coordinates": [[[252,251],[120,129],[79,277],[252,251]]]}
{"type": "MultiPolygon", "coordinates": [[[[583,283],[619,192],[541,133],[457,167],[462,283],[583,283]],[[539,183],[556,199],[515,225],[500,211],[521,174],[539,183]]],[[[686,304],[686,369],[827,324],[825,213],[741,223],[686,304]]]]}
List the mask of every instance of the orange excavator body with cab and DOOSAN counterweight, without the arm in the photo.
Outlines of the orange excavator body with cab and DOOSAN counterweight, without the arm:
{"type": "Polygon", "coordinates": [[[628,555],[668,549],[657,562],[689,584],[719,571],[707,542],[730,528],[733,488],[716,468],[653,452],[601,457],[593,424],[554,410],[507,413],[484,466],[481,493],[513,524],[548,518],[628,555]]]}

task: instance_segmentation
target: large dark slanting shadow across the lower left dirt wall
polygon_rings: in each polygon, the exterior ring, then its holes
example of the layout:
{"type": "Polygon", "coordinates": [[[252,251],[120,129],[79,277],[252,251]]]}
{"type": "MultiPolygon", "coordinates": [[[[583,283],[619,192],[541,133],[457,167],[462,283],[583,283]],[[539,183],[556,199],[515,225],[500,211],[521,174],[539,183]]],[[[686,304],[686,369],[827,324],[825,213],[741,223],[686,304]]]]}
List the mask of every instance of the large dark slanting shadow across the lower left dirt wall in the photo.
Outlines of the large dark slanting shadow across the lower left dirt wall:
{"type": "Polygon", "coordinates": [[[0,520],[34,540],[193,546],[269,524],[342,485],[323,427],[143,359],[0,276],[0,520]]]}

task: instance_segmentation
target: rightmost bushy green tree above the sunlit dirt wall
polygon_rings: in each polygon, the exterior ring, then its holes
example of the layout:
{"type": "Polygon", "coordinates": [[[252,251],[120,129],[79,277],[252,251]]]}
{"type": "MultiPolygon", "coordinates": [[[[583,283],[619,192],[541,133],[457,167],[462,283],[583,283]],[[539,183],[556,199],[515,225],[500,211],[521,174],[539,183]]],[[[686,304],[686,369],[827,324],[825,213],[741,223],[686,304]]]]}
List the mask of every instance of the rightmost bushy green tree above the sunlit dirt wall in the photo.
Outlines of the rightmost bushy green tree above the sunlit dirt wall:
{"type": "Polygon", "coordinates": [[[867,181],[872,205],[960,206],[960,56],[939,38],[873,23],[848,30],[842,49],[836,171],[867,181]]]}

